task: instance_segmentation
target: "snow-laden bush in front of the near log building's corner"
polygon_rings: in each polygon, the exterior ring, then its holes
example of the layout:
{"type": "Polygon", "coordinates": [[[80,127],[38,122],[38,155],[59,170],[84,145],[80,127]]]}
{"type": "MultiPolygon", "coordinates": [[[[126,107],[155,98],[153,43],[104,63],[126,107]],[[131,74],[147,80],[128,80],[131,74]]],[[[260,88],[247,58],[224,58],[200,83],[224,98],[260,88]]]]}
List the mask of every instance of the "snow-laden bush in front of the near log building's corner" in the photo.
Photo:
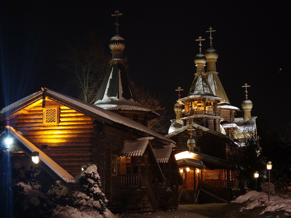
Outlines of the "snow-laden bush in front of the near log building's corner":
{"type": "Polygon", "coordinates": [[[100,190],[101,185],[96,165],[83,166],[84,170],[76,177],[75,183],[56,181],[47,193],[56,205],[56,217],[72,217],[84,214],[103,214],[108,200],[100,190]]]}

